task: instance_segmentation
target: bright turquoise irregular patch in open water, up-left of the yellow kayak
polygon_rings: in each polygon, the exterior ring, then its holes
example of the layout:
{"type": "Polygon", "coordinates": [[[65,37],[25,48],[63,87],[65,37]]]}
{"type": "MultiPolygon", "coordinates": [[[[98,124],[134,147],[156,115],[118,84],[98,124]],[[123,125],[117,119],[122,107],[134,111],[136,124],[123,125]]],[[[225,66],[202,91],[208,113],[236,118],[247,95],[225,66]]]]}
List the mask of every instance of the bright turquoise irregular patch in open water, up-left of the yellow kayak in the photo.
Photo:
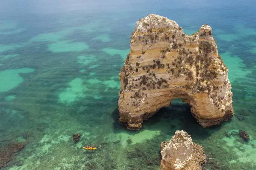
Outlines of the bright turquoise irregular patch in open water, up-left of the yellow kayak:
{"type": "Polygon", "coordinates": [[[83,85],[83,80],[75,78],[69,82],[69,87],[58,95],[59,103],[71,105],[76,100],[84,98],[85,91],[87,91],[87,88],[83,85]]]}

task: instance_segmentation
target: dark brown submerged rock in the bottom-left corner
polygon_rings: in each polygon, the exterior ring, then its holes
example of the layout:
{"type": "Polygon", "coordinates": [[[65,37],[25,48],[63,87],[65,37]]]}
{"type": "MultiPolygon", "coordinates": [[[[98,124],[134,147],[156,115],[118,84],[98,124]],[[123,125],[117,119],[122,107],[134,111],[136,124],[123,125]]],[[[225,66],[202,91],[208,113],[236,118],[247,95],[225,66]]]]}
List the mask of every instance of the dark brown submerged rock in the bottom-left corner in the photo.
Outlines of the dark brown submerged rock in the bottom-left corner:
{"type": "Polygon", "coordinates": [[[0,148],[0,168],[5,167],[11,156],[24,148],[24,143],[11,143],[0,148]]]}

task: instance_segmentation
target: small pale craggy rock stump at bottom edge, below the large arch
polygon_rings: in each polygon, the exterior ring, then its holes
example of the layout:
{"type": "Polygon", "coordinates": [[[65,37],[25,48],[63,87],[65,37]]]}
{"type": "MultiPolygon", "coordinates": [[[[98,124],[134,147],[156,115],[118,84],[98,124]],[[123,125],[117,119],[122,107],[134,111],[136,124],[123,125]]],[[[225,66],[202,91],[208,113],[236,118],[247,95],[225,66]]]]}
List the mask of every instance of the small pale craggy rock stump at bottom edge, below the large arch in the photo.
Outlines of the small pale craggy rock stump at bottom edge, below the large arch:
{"type": "Polygon", "coordinates": [[[171,140],[161,143],[161,155],[163,170],[200,170],[206,162],[203,148],[184,131],[176,131],[171,140]]]}

